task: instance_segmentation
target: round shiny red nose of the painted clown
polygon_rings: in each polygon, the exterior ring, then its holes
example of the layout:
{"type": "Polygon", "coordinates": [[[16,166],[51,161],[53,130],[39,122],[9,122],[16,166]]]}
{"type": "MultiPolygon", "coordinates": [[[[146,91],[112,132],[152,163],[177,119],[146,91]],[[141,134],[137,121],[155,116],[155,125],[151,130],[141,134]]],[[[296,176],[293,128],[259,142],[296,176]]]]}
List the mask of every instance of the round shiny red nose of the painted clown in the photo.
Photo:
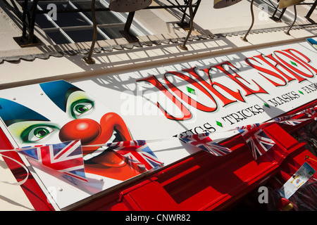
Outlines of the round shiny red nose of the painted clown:
{"type": "Polygon", "coordinates": [[[61,141],[80,139],[84,146],[97,139],[100,132],[101,127],[98,122],[90,119],[77,119],[68,122],[61,128],[59,139],[61,141]]]}

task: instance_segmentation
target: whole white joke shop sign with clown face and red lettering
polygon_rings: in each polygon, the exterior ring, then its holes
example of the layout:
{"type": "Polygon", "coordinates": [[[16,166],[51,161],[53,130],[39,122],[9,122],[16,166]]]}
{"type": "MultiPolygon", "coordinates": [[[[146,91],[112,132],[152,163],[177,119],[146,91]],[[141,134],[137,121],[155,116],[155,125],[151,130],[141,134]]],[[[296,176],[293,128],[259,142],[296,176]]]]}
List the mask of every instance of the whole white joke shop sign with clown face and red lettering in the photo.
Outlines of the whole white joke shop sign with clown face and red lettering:
{"type": "MultiPolygon", "coordinates": [[[[2,127],[15,147],[80,139],[87,182],[30,166],[63,209],[139,176],[105,143],[145,140],[164,166],[199,150],[175,136],[265,122],[316,99],[317,51],[306,41],[157,68],[0,91],[2,127]],[[83,125],[84,124],[84,125],[83,125]],[[89,127],[80,130],[85,124],[89,127]]],[[[211,156],[216,157],[216,156],[211,156]]],[[[50,194],[49,194],[50,193],[50,194]]]]}

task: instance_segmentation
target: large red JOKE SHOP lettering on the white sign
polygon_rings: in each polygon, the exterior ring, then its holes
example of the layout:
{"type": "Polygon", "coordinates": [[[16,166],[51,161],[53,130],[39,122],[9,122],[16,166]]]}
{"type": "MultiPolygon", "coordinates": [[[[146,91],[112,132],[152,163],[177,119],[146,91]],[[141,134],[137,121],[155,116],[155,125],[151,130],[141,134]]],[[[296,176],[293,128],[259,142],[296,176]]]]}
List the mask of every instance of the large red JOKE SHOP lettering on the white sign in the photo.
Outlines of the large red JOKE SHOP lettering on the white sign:
{"type": "MultiPolygon", "coordinates": [[[[313,68],[309,63],[311,60],[305,56],[303,53],[295,49],[286,49],[282,51],[274,51],[273,53],[265,56],[259,54],[257,56],[252,56],[246,58],[245,62],[252,68],[259,71],[259,75],[266,78],[268,82],[273,84],[275,87],[285,86],[287,82],[292,82],[297,80],[297,82],[303,82],[306,78],[313,77],[316,75],[316,68],[313,68]]],[[[207,80],[203,76],[199,75],[197,68],[189,68],[182,70],[182,72],[166,72],[163,75],[163,80],[165,85],[157,79],[156,76],[151,75],[149,77],[138,79],[137,82],[149,82],[155,86],[159,91],[161,91],[167,98],[174,103],[176,107],[182,112],[182,115],[176,117],[168,113],[159,102],[156,102],[157,107],[161,112],[170,120],[189,120],[192,117],[190,110],[184,105],[191,105],[197,110],[204,112],[213,112],[218,109],[219,106],[225,106],[230,103],[237,101],[245,102],[244,96],[249,96],[252,94],[268,94],[268,92],[263,89],[262,86],[256,83],[254,79],[247,81],[242,78],[232,63],[225,61],[218,65],[213,65],[210,68],[205,68],[199,70],[207,75],[207,80]],[[211,77],[211,70],[221,72],[230,80],[235,82],[239,87],[236,90],[232,90],[225,84],[220,84],[219,82],[214,82],[211,77]],[[189,76],[190,75],[190,76],[189,76]],[[204,105],[198,101],[191,98],[189,95],[181,91],[177,85],[170,82],[168,77],[175,76],[182,79],[188,84],[192,84],[195,88],[199,89],[207,98],[211,100],[210,105],[204,105]],[[251,89],[245,84],[250,84],[253,86],[251,89]],[[168,89],[166,88],[168,86],[168,89]],[[225,95],[223,94],[225,93],[225,95]],[[242,94],[244,93],[244,94],[242,94]],[[176,96],[178,98],[176,98],[176,96]],[[231,98],[228,98],[231,96],[231,98]],[[180,99],[180,100],[179,100],[180,99]],[[218,101],[216,101],[218,99],[218,101]]],[[[224,82],[225,83],[225,82],[224,82]]]]}

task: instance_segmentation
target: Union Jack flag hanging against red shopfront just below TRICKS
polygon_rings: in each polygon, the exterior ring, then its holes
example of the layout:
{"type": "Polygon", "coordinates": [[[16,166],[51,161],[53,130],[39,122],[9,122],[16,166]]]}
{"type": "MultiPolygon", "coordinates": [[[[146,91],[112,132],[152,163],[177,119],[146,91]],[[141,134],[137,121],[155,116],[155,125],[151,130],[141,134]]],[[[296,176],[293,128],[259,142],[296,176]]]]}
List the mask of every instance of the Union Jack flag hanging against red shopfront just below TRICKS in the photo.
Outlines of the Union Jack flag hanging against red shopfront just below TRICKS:
{"type": "Polygon", "coordinates": [[[259,124],[237,127],[237,129],[249,146],[254,160],[275,145],[275,142],[259,127],[259,124]]]}

